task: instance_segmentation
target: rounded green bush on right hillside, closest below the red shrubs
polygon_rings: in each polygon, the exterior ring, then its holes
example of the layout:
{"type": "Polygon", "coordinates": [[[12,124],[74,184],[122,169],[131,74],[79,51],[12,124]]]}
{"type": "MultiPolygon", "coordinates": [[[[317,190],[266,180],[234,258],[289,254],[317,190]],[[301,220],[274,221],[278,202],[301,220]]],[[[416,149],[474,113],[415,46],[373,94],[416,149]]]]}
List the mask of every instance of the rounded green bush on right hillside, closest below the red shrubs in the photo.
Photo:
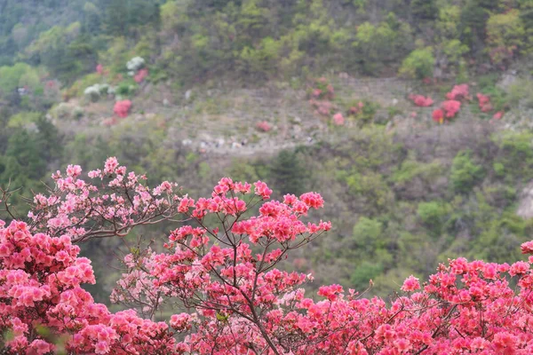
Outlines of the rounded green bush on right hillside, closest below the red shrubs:
{"type": "Polygon", "coordinates": [[[467,193],[484,177],[484,170],[472,160],[472,152],[459,152],[451,163],[449,182],[459,193],[467,193]]]}

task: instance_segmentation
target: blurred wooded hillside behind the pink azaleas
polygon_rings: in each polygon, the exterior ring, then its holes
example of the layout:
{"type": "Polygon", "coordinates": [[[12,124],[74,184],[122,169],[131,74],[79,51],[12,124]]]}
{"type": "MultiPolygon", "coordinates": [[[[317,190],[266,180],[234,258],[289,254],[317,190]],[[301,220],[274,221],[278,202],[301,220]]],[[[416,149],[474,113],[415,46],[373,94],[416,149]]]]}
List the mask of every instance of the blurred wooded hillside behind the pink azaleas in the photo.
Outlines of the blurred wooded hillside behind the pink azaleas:
{"type": "MultiPolygon", "coordinates": [[[[52,172],[116,156],[191,195],[317,191],[333,228],[284,266],[386,296],[451,257],[520,257],[532,50],[532,0],[0,1],[0,186],[24,217],[52,172]]],[[[122,247],[83,245],[99,302],[122,247]]]]}

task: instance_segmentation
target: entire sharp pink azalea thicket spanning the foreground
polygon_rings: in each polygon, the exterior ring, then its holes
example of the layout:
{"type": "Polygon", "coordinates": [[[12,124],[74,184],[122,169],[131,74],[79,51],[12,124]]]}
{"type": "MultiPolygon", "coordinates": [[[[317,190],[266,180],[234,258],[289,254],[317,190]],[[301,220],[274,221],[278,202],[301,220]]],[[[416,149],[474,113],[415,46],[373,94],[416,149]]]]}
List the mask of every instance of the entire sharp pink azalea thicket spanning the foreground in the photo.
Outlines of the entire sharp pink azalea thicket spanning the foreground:
{"type": "MultiPolygon", "coordinates": [[[[420,284],[410,276],[390,304],[339,285],[275,268],[330,223],[304,223],[323,206],[318,193],[269,201],[263,182],[224,177],[193,200],[168,182],[148,188],[114,158],[91,171],[69,166],[56,188],[36,195],[28,223],[0,222],[0,341],[7,353],[46,354],[530,354],[533,273],[514,264],[441,264],[420,284]],[[259,214],[252,216],[253,206],[259,214]],[[121,237],[135,225],[175,220],[166,252],[136,250],[113,299],[137,304],[112,314],[80,284],[94,282],[77,241],[121,237]],[[211,225],[210,221],[218,221],[211,225]],[[181,311],[150,320],[161,304],[181,311]],[[183,312],[184,311],[184,312],[183,312]]],[[[7,206],[7,205],[6,205],[7,206]]],[[[533,241],[522,244],[533,254],[533,241]]]]}

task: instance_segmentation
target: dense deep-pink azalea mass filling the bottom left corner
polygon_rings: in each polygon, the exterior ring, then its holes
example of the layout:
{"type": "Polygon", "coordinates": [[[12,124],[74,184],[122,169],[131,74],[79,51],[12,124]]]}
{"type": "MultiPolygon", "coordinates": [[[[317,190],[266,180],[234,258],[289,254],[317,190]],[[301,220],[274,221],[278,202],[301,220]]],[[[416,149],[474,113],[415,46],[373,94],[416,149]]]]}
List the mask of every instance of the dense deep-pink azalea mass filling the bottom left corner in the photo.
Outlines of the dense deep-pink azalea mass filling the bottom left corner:
{"type": "Polygon", "coordinates": [[[112,314],[81,288],[94,283],[91,262],[65,234],[31,233],[12,221],[0,227],[0,331],[12,332],[8,353],[47,354],[57,344],[39,329],[68,335],[67,351],[95,354],[171,353],[169,327],[135,312],[112,314]]]}

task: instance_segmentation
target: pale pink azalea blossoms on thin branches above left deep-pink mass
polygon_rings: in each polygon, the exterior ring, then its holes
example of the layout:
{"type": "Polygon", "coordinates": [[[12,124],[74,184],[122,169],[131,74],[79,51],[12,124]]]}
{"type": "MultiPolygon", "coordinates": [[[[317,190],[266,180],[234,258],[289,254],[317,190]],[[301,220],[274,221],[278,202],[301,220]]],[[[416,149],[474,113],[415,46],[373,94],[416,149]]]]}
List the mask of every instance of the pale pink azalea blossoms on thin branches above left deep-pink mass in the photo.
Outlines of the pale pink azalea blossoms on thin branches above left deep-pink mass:
{"type": "Polygon", "coordinates": [[[55,188],[38,193],[28,213],[32,232],[52,237],[68,235],[73,242],[112,236],[124,237],[136,225],[156,223],[179,214],[179,188],[164,181],[150,188],[147,177],[128,172],[115,157],[103,169],[81,178],[79,165],[52,175],[55,188]]]}

